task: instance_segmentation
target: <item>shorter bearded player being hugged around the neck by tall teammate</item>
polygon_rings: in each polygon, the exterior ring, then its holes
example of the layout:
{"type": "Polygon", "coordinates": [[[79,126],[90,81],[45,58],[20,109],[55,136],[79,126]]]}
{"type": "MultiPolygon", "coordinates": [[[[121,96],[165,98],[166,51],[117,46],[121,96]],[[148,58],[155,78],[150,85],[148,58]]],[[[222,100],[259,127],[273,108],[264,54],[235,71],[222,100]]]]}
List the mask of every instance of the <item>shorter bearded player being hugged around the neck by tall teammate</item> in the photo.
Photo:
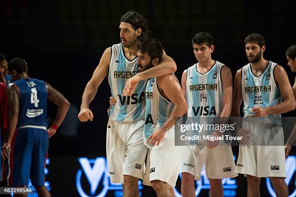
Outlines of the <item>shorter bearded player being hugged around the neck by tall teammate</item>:
{"type": "MultiPolygon", "coordinates": [[[[148,39],[141,42],[137,55],[139,72],[149,70],[158,66],[163,46],[148,39]]],[[[181,147],[175,146],[174,124],[187,110],[177,77],[167,74],[148,79],[145,101],[144,143],[149,148],[145,174],[158,197],[175,197],[181,147]]]]}

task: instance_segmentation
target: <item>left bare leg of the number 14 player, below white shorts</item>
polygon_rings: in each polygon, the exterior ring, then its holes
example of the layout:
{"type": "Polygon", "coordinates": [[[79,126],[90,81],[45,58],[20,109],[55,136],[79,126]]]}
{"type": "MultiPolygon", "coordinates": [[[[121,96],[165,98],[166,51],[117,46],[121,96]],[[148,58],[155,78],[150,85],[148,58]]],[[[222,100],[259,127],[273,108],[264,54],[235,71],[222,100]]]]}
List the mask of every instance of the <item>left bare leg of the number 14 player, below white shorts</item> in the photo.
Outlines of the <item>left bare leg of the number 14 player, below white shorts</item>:
{"type": "Polygon", "coordinates": [[[182,197],[195,197],[194,176],[190,173],[182,173],[181,182],[182,197]]]}

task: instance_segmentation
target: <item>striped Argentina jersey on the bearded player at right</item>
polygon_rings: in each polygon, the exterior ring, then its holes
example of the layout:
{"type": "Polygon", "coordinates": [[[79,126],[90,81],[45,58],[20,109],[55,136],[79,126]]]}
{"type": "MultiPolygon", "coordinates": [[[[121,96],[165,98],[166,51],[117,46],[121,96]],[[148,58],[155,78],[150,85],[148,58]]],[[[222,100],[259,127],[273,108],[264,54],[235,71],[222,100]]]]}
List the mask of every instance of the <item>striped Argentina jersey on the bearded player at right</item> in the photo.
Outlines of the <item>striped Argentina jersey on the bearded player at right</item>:
{"type": "MultiPolygon", "coordinates": [[[[252,108],[278,105],[282,101],[280,90],[274,79],[276,63],[269,61],[260,75],[252,73],[251,63],[241,69],[241,92],[244,101],[244,116],[253,116],[252,108]]],[[[281,114],[278,114],[281,116],[281,114]]]]}

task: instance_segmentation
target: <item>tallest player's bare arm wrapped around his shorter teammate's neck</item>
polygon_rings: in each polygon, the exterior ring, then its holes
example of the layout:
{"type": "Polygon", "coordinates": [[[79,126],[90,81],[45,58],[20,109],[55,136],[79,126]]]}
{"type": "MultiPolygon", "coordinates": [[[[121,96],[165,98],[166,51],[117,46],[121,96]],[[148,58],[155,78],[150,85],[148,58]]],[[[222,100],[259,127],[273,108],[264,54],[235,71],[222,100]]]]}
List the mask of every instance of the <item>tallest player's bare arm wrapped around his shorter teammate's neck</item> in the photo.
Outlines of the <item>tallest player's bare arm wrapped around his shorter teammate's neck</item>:
{"type": "Polygon", "coordinates": [[[174,73],[176,70],[177,65],[174,59],[170,56],[167,56],[163,50],[162,60],[158,64],[158,66],[137,73],[126,82],[123,89],[123,96],[131,96],[140,80],[171,74],[174,73]]]}

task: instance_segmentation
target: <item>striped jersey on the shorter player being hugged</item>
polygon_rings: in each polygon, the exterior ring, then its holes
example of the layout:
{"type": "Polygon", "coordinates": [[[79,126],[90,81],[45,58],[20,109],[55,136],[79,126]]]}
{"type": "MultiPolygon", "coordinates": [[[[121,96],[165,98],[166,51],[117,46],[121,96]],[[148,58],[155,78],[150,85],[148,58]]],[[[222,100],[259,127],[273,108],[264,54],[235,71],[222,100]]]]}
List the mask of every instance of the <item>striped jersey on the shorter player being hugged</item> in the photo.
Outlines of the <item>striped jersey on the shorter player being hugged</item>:
{"type": "Polygon", "coordinates": [[[170,117],[174,104],[165,99],[159,92],[157,77],[148,80],[145,92],[145,125],[144,143],[170,117]]]}

